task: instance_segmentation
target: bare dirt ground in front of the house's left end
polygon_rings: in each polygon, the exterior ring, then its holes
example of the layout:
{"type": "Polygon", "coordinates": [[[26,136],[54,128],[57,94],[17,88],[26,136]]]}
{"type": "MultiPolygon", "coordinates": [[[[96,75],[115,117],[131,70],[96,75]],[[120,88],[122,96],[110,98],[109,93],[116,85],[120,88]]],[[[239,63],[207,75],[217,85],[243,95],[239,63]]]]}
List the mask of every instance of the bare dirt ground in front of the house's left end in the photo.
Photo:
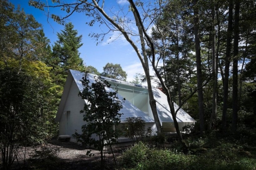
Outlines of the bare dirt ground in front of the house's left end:
{"type": "MultiPolygon", "coordinates": [[[[116,159],[127,147],[114,148],[114,155],[116,159]]],[[[20,154],[20,166],[24,164],[21,160],[23,153],[20,154]]],[[[117,160],[118,162],[118,160],[117,160]]],[[[97,150],[93,150],[89,147],[84,147],[81,144],[66,141],[57,141],[52,139],[47,144],[26,148],[26,168],[29,170],[98,170],[100,169],[100,153],[97,150]],[[48,148],[55,150],[57,159],[34,159],[31,160],[31,156],[35,153],[35,150],[41,150],[42,148],[48,148]],[[91,150],[94,156],[86,156],[87,150],[91,150]]],[[[17,162],[15,163],[15,169],[18,169],[17,162]]],[[[22,168],[23,169],[23,168],[22,168]]],[[[111,150],[106,150],[105,169],[116,169],[111,150]]]]}

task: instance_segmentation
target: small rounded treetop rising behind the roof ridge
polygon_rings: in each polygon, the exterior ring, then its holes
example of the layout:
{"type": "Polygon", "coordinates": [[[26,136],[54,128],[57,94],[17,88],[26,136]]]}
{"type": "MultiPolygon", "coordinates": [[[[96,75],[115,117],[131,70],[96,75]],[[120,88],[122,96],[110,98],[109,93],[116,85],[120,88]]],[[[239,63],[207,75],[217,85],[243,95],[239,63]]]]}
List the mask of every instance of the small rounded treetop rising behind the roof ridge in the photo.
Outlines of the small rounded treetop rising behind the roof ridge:
{"type": "Polygon", "coordinates": [[[127,78],[127,74],[122,69],[120,64],[113,64],[109,62],[103,67],[101,76],[109,77],[112,79],[119,79],[122,81],[126,81],[127,78]]]}

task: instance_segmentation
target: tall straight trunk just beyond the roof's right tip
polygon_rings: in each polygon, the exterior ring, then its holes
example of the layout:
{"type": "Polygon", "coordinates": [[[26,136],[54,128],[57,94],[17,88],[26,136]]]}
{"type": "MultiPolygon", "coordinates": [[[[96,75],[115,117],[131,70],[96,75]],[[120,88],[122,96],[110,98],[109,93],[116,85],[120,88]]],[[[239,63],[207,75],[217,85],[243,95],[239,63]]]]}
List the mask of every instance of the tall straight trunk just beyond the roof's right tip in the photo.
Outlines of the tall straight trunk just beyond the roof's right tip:
{"type": "MultiPolygon", "coordinates": [[[[202,86],[202,69],[201,69],[201,51],[200,51],[200,40],[199,40],[199,18],[198,18],[198,0],[194,2],[194,32],[195,32],[195,56],[196,56],[196,71],[197,71],[197,86],[202,86]]],[[[204,97],[203,88],[198,90],[198,106],[199,106],[199,119],[200,119],[200,133],[202,134],[204,128],[204,97]]]]}

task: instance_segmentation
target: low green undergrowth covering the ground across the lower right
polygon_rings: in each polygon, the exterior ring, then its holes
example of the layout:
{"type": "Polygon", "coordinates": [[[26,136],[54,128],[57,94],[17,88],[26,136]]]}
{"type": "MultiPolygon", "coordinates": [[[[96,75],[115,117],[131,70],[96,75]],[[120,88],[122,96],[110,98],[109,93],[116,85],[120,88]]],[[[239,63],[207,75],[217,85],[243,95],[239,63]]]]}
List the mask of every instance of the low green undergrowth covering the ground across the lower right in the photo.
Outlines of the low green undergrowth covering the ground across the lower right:
{"type": "Polygon", "coordinates": [[[172,141],[165,148],[139,142],[122,153],[120,169],[134,170],[254,170],[256,169],[256,129],[236,134],[213,131],[204,136],[186,135],[186,148],[172,141]]]}

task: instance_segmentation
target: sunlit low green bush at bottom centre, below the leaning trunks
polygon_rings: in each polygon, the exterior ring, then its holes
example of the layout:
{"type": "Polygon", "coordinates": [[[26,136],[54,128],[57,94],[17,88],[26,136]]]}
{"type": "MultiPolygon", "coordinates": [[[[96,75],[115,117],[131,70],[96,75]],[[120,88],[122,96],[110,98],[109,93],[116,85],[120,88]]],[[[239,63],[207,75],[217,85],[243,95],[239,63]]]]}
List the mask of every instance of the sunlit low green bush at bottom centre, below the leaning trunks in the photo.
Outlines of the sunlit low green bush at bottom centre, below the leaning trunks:
{"type": "Polygon", "coordinates": [[[159,150],[149,148],[146,144],[139,142],[131,149],[126,150],[121,156],[121,164],[125,168],[136,170],[181,170],[186,169],[191,157],[171,150],[159,150]]]}

